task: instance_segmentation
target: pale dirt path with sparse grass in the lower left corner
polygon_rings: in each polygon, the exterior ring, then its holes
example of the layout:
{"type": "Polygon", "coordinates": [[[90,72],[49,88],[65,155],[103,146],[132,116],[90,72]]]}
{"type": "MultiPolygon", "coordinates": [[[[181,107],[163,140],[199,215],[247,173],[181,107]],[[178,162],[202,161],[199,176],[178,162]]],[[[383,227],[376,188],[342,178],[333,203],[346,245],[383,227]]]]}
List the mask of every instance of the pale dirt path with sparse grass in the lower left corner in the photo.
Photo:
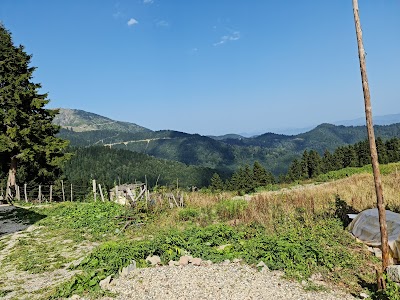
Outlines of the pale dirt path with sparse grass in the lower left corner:
{"type": "Polygon", "coordinates": [[[45,299],[49,288],[68,280],[76,273],[68,270],[68,266],[77,264],[96,244],[83,242],[76,245],[73,241],[65,241],[57,236],[49,239],[46,228],[31,224],[26,219],[21,220],[21,213],[24,213],[22,208],[0,206],[0,298],[45,299]],[[24,262],[29,264],[37,259],[37,250],[33,248],[23,251],[21,249],[24,249],[24,245],[34,245],[40,249],[41,246],[46,248],[49,244],[55,244],[57,247],[49,248],[51,251],[44,253],[49,258],[46,261],[45,257],[43,261],[44,271],[32,271],[23,265],[24,262]],[[68,263],[58,266],[57,261],[52,261],[53,257],[60,257],[68,263]],[[51,264],[54,264],[54,267],[51,264]],[[29,270],[21,270],[24,268],[29,270]]]}

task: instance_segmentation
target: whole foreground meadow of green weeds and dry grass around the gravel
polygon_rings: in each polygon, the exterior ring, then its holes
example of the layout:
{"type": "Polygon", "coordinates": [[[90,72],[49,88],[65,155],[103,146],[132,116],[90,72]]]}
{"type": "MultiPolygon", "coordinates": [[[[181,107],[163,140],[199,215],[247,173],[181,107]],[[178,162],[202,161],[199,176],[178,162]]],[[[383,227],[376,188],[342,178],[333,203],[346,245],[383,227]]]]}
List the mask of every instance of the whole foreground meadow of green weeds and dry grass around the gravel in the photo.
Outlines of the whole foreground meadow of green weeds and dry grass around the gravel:
{"type": "MultiPolygon", "coordinates": [[[[400,208],[399,166],[382,166],[385,201],[395,211],[400,208]]],[[[214,263],[239,258],[255,266],[263,261],[306,290],[335,287],[355,296],[364,292],[373,299],[397,299],[388,296],[395,286],[389,285],[386,294],[376,291],[380,262],[345,229],[346,212],[374,206],[367,171],[347,170],[345,178],[327,182],[270,186],[244,197],[202,190],[187,193],[185,206],[174,209],[161,202],[126,209],[90,196],[85,202],[21,203],[14,216],[33,226],[0,237],[0,295],[96,299],[108,295],[99,282],[117,277],[132,259],[147,267],[148,255],[168,264],[190,254],[214,263]]]]}

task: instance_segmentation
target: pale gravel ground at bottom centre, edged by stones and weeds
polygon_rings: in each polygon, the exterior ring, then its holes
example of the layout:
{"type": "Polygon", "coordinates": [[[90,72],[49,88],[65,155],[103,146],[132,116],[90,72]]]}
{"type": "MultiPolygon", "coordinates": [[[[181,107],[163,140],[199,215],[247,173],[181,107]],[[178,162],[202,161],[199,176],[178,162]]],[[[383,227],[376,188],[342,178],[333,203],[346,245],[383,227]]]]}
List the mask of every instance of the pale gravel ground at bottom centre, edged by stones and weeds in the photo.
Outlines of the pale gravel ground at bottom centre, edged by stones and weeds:
{"type": "MultiPolygon", "coordinates": [[[[116,299],[355,299],[340,291],[310,292],[282,272],[239,263],[136,269],[108,285],[116,299]]],[[[107,298],[104,298],[105,300],[107,298]]]]}

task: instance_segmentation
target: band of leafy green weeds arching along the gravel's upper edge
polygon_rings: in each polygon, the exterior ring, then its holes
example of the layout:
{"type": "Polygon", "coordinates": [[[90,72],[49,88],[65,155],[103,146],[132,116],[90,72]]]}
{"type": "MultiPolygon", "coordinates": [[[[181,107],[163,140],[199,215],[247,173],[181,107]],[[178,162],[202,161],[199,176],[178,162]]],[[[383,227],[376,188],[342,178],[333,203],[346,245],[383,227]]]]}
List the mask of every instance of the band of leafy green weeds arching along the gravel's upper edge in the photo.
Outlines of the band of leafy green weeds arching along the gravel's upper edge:
{"type": "Polygon", "coordinates": [[[270,269],[284,270],[296,279],[307,278],[315,271],[327,273],[338,268],[355,273],[363,263],[362,255],[351,251],[354,242],[344,234],[340,220],[320,219],[313,226],[306,226],[296,218],[286,218],[277,226],[277,232],[272,235],[257,224],[238,227],[214,224],[165,230],[151,240],[107,242],[78,266],[83,273],[61,286],[57,296],[98,290],[101,279],[118,273],[133,259],[138,266],[146,266],[148,255],[160,256],[165,264],[184,254],[213,262],[242,258],[256,264],[262,260],[270,269]]]}

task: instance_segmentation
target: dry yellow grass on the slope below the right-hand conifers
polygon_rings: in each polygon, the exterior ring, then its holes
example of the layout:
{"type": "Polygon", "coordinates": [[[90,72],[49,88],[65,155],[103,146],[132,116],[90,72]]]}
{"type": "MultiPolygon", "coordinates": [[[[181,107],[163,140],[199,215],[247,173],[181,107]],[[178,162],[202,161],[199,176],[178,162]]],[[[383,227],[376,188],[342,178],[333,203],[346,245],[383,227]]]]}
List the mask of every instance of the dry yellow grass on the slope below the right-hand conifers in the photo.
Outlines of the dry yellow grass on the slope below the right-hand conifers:
{"type": "MultiPolygon", "coordinates": [[[[392,210],[400,210],[400,175],[392,173],[382,176],[385,204],[392,210]]],[[[187,204],[191,207],[213,207],[221,200],[230,199],[233,193],[203,194],[191,193],[187,204]]],[[[375,186],[372,174],[356,174],[351,177],[322,184],[305,184],[273,192],[252,195],[246,211],[239,221],[258,222],[267,227],[282,215],[303,215],[304,221],[315,214],[333,212],[335,198],[362,211],[376,206],[375,186]]]]}

